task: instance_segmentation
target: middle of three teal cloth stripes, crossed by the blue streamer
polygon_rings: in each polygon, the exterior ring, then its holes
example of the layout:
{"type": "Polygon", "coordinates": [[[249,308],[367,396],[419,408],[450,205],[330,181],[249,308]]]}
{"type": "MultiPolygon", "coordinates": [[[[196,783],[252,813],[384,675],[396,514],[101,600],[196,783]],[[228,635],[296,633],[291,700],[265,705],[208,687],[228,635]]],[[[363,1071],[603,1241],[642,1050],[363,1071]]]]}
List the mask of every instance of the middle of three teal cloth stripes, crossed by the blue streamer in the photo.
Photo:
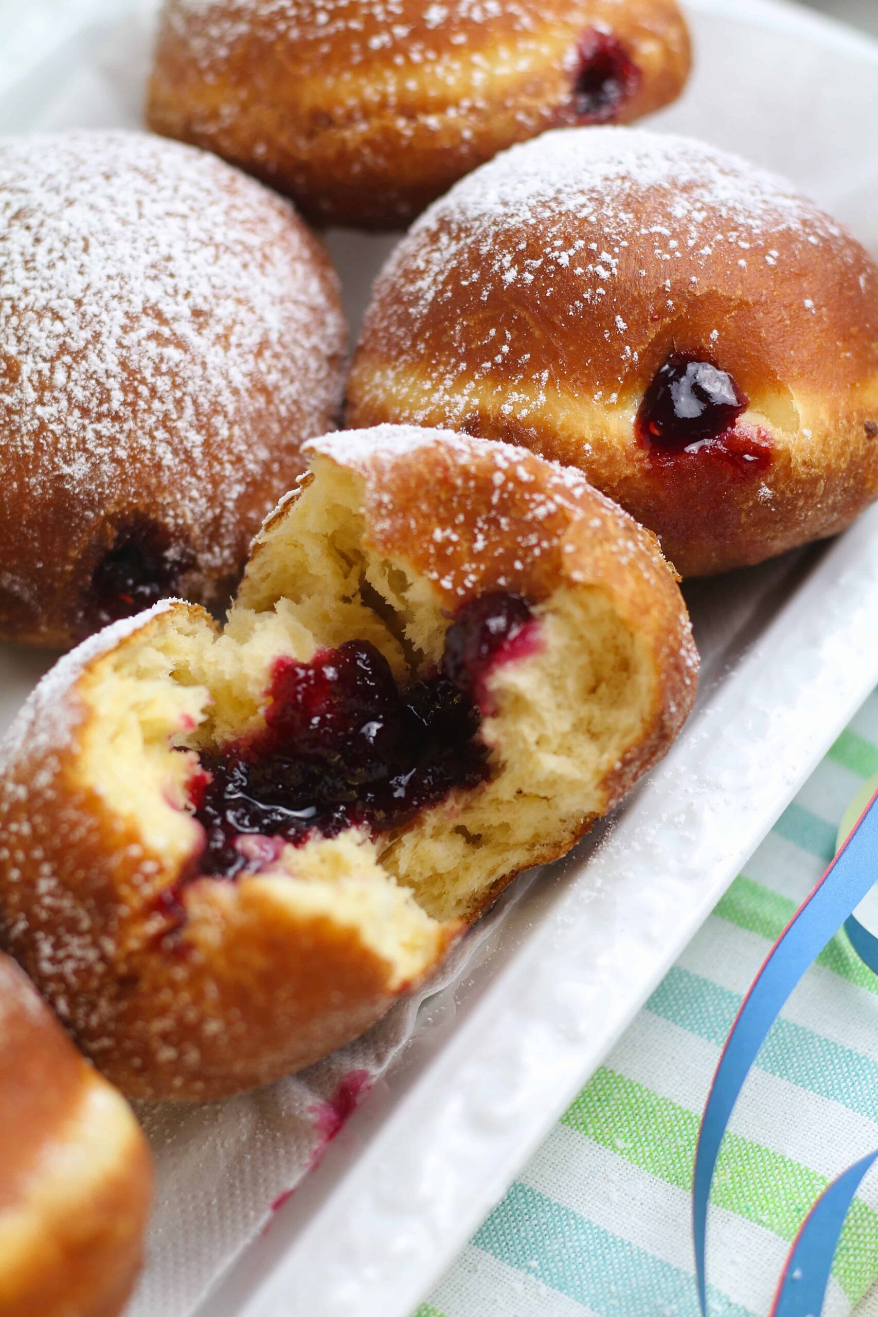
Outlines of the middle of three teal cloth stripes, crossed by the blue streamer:
{"type": "MultiPolygon", "coordinates": [[[[674,965],[646,1002],[646,1010],[721,1047],[740,1005],[737,993],[674,965]]],[[[778,1019],[756,1064],[778,1079],[878,1121],[878,1064],[862,1052],[788,1019],[778,1019]]]]}

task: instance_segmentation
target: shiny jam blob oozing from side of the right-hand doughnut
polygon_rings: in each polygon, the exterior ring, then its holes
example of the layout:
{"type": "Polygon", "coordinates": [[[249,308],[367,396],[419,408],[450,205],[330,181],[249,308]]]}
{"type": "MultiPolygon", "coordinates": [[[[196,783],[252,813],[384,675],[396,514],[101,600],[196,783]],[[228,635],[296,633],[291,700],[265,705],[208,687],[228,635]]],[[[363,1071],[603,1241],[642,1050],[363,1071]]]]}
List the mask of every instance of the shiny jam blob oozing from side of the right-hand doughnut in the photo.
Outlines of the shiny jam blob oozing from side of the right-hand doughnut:
{"type": "Polygon", "coordinates": [[[749,406],[728,370],[688,353],[671,353],[640,404],[637,439],[659,460],[721,460],[741,471],[761,471],[773,448],[756,427],[738,424],[749,406]]]}

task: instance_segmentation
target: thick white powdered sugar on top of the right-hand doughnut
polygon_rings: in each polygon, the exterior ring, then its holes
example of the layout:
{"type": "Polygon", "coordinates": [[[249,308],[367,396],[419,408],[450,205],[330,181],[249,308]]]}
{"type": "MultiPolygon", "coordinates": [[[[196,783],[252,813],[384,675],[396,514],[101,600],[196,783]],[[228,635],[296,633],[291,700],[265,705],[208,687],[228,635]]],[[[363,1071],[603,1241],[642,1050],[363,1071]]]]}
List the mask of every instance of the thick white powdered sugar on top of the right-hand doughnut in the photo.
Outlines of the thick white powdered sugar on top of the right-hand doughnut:
{"type": "MultiPolygon", "coordinates": [[[[785,259],[774,246],[781,234],[815,249],[817,265],[821,246],[846,237],[782,178],[704,142],[629,128],[558,129],[503,151],[436,202],[391,257],[375,298],[404,269],[407,311],[417,319],[437,299],[455,296],[463,253],[475,244],[479,266],[467,275],[480,300],[534,284],[549,298],[555,270],[567,270],[577,279],[559,291],[557,312],[583,315],[615,304],[613,284],[632,275],[627,253],[646,237],[673,311],[678,290],[691,296],[699,281],[686,257],[699,265],[703,290],[719,266],[758,263],[770,279],[785,259]],[[540,250],[521,254],[528,237],[540,250]]],[[[654,271],[640,274],[653,282],[654,271]]],[[[620,304],[613,321],[623,344],[624,311],[620,304]]]]}

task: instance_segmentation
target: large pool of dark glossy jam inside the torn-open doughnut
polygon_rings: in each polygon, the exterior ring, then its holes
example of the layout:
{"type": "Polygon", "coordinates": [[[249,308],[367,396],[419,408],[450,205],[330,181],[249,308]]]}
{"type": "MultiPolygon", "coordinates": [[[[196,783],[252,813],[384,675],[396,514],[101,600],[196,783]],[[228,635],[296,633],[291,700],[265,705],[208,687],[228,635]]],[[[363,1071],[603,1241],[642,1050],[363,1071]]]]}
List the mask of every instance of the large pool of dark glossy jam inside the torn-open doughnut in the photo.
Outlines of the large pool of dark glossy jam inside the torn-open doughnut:
{"type": "Polygon", "coordinates": [[[315,832],[388,831],[453,788],[483,782],[479,694],[498,662],[533,652],[534,628],[519,595],[483,595],[449,627],[440,670],[401,689],[363,640],[309,662],[279,660],[265,731],[200,756],[191,789],[207,836],[200,872],[258,869],[283,842],[315,832]]]}

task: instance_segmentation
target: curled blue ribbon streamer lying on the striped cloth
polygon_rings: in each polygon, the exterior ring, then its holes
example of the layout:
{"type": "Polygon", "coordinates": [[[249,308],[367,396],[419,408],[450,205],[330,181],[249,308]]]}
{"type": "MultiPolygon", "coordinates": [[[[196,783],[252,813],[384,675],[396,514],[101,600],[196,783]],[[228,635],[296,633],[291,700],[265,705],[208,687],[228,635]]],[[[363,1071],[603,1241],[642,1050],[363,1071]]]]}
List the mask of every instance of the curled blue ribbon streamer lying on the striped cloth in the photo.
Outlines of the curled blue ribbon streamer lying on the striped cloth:
{"type": "MultiPolygon", "coordinates": [[[[741,1004],[713,1075],[702,1117],[692,1187],[695,1280],[704,1317],[707,1205],[720,1144],[735,1104],[790,993],[842,925],[857,954],[878,973],[878,938],[853,917],[877,880],[878,792],[813,892],[771,947],[741,1004]]],[[[849,1167],[817,1198],[787,1258],[771,1317],[819,1317],[848,1209],[860,1181],[877,1158],[878,1151],[849,1167]]]]}

